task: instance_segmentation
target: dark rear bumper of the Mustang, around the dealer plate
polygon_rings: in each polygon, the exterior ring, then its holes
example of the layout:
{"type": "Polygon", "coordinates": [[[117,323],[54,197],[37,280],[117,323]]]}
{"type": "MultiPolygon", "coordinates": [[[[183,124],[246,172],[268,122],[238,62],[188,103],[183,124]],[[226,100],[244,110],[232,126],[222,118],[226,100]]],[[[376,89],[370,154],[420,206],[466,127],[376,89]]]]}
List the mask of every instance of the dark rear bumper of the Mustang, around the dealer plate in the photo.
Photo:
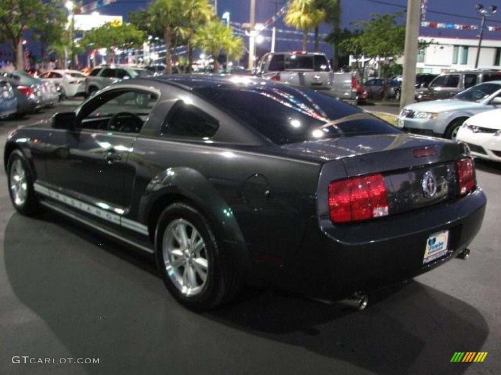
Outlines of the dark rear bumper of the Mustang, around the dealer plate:
{"type": "Polygon", "coordinates": [[[343,298],[427,272],[455,257],[480,229],[486,198],[480,189],[453,202],[381,220],[334,228],[311,220],[302,250],[284,271],[288,287],[321,298],[343,298]],[[448,252],[423,265],[430,235],[449,231],[448,252]]]}

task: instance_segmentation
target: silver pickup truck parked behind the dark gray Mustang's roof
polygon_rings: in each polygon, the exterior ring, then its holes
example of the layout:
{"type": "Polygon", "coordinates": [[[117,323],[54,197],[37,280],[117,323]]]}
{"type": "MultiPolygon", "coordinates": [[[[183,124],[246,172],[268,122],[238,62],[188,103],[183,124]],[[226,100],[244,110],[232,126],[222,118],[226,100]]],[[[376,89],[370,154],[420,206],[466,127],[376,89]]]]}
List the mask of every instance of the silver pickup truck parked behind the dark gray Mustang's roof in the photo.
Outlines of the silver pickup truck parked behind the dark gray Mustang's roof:
{"type": "Polygon", "coordinates": [[[269,52],[259,61],[257,75],[322,90],[346,101],[357,100],[356,79],[351,73],[335,73],[324,53],[269,52]]]}

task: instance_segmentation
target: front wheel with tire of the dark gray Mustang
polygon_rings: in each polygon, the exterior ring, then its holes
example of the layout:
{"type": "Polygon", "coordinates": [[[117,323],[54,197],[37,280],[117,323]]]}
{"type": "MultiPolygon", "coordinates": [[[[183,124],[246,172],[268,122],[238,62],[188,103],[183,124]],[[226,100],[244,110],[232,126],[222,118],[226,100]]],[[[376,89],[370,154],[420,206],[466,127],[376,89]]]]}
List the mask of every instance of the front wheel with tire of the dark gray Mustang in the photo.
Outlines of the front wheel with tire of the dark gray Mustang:
{"type": "Polygon", "coordinates": [[[33,187],[33,176],[25,155],[20,150],[12,151],[7,162],[9,195],[18,212],[33,216],[39,210],[39,203],[33,187]]]}

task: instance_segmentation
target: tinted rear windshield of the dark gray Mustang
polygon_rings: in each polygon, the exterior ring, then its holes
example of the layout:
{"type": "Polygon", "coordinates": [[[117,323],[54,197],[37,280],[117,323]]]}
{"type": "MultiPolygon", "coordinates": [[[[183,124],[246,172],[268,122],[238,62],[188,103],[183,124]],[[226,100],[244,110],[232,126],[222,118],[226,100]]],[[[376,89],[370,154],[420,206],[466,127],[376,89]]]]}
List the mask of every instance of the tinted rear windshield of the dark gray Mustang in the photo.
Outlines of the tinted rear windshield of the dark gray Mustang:
{"type": "Polygon", "coordinates": [[[277,144],[400,132],[356,107],[313,90],[256,84],[204,87],[196,92],[277,144]]]}

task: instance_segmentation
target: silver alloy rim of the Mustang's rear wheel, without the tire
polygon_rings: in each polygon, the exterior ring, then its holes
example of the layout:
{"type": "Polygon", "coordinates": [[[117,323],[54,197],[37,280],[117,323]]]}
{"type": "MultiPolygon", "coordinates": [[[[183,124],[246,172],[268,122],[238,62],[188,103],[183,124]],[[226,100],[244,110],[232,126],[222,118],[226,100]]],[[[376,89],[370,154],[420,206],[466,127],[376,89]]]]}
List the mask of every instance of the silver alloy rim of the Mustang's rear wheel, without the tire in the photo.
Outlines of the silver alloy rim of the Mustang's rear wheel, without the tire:
{"type": "Polygon", "coordinates": [[[183,218],[171,221],[163,234],[162,252],[167,274],[181,294],[200,294],[209,263],[205,242],[196,227],[183,218]]]}

